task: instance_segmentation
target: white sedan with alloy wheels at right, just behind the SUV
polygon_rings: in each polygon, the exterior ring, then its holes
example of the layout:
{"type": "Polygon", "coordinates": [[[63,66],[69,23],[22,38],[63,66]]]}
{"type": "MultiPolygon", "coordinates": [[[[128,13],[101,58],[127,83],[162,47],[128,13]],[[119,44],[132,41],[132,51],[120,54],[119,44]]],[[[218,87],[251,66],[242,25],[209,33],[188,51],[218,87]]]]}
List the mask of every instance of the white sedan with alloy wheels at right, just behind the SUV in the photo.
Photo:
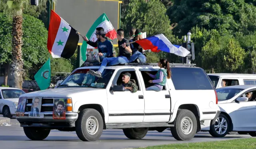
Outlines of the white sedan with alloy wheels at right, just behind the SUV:
{"type": "Polygon", "coordinates": [[[216,89],[220,115],[201,121],[201,131],[224,137],[229,131],[256,137],[256,85],[234,85],[216,89]]]}

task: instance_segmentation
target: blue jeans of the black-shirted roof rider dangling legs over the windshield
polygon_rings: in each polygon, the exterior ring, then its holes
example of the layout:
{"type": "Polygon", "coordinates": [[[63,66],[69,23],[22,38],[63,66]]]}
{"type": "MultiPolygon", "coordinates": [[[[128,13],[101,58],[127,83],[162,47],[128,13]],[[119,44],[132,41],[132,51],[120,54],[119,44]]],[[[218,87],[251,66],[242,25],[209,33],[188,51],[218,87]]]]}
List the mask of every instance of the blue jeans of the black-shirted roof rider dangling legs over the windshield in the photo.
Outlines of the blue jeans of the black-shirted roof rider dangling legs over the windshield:
{"type": "Polygon", "coordinates": [[[109,66],[113,66],[113,65],[125,64],[125,63],[129,63],[129,60],[127,59],[127,57],[120,56],[120,57],[105,58],[103,59],[98,72],[102,73],[106,68],[107,64],[109,66]]]}

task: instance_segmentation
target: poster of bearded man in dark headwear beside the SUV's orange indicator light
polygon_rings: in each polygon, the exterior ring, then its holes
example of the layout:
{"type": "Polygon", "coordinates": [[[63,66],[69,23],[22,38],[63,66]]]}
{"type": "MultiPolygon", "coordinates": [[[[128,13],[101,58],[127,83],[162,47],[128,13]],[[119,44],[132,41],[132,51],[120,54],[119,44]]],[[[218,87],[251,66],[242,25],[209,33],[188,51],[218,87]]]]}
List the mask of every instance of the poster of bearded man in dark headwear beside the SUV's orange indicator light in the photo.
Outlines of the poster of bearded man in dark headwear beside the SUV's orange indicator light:
{"type": "Polygon", "coordinates": [[[66,99],[54,99],[52,118],[54,120],[66,120],[66,99]]]}

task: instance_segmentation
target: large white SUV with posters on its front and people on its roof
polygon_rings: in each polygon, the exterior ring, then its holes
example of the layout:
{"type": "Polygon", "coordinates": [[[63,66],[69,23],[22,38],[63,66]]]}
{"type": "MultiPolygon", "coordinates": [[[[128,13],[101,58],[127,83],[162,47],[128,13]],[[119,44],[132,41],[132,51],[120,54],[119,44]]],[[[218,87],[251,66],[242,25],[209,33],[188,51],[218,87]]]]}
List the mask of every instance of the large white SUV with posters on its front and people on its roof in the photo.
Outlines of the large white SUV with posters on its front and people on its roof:
{"type": "Polygon", "coordinates": [[[175,139],[190,140],[201,130],[200,121],[218,116],[218,99],[202,68],[171,65],[172,77],[160,92],[146,90],[152,78],[145,72],[156,74],[157,64],[108,66],[102,78],[88,73],[99,66],[80,67],[57,88],[22,95],[26,110],[17,120],[32,140],[45,139],[51,129],[58,129],[76,131],[82,141],[95,141],[108,128],[123,129],[130,139],[142,139],[150,130],[162,132],[168,127],[175,139]],[[117,85],[126,72],[138,86],[137,92],[117,85]],[[35,97],[41,97],[40,117],[29,116],[35,97]],[[59,104],[60,99],[65,103],[59,104]],[[62,117],[57,116],[58,109],[63,110],[62,117]]]}

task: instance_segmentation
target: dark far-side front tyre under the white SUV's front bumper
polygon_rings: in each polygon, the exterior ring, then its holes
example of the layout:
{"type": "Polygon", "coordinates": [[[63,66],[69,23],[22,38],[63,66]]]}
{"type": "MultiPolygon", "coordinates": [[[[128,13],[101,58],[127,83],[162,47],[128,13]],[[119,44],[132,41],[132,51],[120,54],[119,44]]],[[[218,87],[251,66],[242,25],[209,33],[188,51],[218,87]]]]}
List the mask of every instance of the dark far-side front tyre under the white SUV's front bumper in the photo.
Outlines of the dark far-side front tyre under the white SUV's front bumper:
{"type": "Polygon", "coordinates": [[[51,130],[38,127],[23,127],[25,135],[31,140],[43,140],[48,137],[51,130]]]}

